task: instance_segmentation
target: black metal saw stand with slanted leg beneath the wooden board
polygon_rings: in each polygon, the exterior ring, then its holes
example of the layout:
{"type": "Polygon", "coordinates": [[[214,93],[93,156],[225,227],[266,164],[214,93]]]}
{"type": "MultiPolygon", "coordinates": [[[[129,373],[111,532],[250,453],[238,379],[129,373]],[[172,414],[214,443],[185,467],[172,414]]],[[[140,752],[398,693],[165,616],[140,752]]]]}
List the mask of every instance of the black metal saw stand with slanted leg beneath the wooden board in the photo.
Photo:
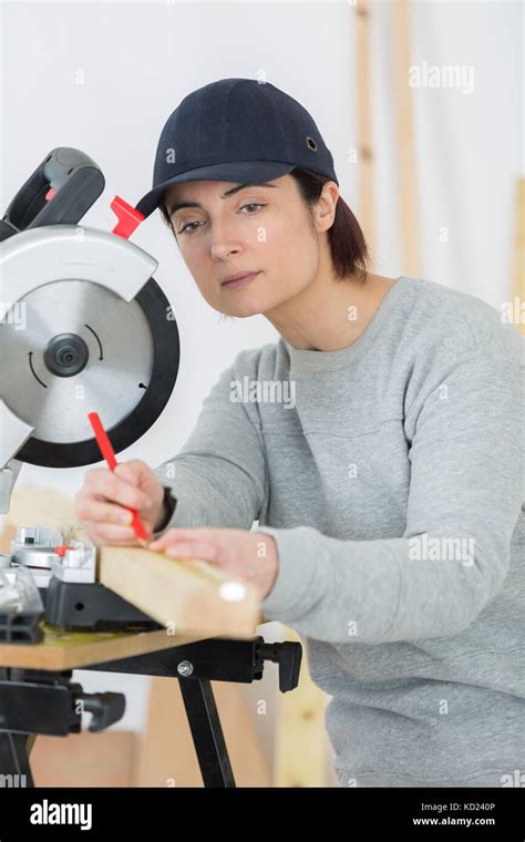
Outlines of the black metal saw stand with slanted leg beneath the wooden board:
{"type": "MultiPolygon", "coordinates": [[[[209,638],[121,660],[81,667],[105,672],[164,676],[178,679],[203,782],[206,788],[235,787],[234,773],[212,689],[212,681],[250,684],[262,678],[265,660],[279,665],[279,689],[297,687],[302,657],[298,643],[267,644],[209,638]]],[[[65,737],[80,732],[82,710],[93,713],[91,731],[119,721],[125,699],[119,692],[84,694],[71,682],[72,670],[0,670],[0,777],[24,776],[33,787],[30,735],[65,737]]],[[[6,780],[6,779],[4,779],[6,780]]]]}

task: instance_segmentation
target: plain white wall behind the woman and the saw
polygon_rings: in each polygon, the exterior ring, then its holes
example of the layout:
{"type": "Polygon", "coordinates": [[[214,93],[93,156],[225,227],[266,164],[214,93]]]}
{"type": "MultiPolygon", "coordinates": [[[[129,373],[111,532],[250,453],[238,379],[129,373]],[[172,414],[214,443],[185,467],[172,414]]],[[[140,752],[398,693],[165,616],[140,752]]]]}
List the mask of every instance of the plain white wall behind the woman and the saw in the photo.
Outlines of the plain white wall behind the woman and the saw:
{"type": "MultiPolygon", "coordinates": [[[[298,99],[331,148],[341,194],[356,205],[353,3],[2,2],[0,204],[4,208],[44,155],[76,146],[103,168],[106,189],[84,217],[111,229],[117,193],[135,204],[148,189],[156,142],[191,91],[227,76],[257,78],[298,99]]],[[[391,3],[373,0],[372,107],[378,222],[377,271],[404,273],[397,210],[391,3]]],[[[511,294],[514,182],[523,170],[521,2],[413,2],[412,62],[472,66],[474,90],[413,91],[421,275],[498,307],[511,294]],[[449,239],[440,242],[440,229],[449,239]]],[[[189,434],[200,403],[241,348],[277,338],[262,317],[222,320],[199,297],[176,245],[154,214],[133,242],[159,261],[182,335],[172,400],[120,459],[156,465],[189,434]]],[[[0,361],[1,364],[1,361],[0,361]]],[[[83,469],[25,465],[19,480],[74,493],[83,469]]],[[[85,687],[110,685],[109,676],[85,687]]],[[[115,685],[121,679],[115,679],[115,685]]],[[[137,690],[142,686],[136,679],[137,690]]],[[[130,698],[130,697],[128,697],[130,698]]],[[[143,697],[130,698],[137,727],[143,697]]],[[[131,723],[131,725],[130,725],[131,723]]]]}

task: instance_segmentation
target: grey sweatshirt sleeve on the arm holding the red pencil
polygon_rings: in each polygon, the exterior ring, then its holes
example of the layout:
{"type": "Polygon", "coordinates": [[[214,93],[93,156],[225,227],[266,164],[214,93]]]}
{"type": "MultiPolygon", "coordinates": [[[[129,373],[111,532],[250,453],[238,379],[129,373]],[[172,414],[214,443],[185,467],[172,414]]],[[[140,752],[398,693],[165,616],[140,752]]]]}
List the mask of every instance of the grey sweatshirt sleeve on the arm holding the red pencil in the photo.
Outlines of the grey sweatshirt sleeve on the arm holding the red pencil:
{"type": "Polygon", "coordinates": [[[251,528],[264,504],[266,460],[260,431],[241,402],[230,399],[234,368],[203,402],[197,423],[177,455],[155,474],[176,497],[159,536],[173,526],[251,528]]]}

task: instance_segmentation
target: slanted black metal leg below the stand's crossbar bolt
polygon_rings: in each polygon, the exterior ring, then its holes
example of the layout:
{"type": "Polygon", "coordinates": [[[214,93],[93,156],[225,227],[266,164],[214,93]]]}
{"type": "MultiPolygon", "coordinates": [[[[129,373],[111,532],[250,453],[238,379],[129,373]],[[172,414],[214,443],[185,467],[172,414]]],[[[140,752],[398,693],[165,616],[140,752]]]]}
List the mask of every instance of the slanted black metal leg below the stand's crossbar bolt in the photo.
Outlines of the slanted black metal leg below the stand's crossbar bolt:
{"type": "Polygon", "coordinates": [[[179,678],[178,682],[204,785],[235,787],[210,682],[198,678],[179,678]]]}

